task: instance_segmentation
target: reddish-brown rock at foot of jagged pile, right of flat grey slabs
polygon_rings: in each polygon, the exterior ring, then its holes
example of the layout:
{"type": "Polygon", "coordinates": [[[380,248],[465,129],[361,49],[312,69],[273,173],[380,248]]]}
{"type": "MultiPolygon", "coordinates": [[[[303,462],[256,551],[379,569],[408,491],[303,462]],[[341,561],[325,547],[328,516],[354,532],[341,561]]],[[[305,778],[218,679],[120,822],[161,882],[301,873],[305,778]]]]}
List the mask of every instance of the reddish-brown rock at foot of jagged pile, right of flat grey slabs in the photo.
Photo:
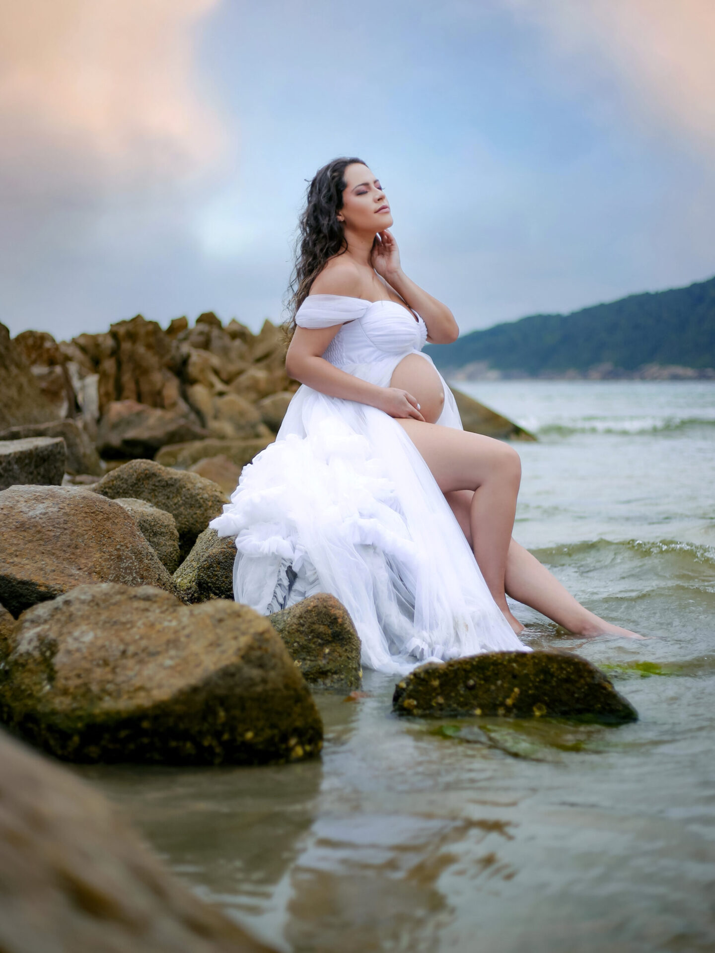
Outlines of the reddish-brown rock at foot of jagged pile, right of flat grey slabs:
{"type": "Polygon", "coordinates": [[[162,410],[135,400],[115,400],[99,421],[97,450],[107,459],[151,459],[165,444],[209,436],[209,431],[181,409],[162,410]]]}

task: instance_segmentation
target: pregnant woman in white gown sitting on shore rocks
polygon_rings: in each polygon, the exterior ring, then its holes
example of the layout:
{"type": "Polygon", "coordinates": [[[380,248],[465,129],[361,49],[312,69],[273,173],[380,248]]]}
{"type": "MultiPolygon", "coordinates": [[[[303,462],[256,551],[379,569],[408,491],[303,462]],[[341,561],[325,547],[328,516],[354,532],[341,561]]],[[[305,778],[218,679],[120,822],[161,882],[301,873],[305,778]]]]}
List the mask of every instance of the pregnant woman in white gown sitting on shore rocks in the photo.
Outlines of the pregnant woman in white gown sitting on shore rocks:
{"type": "Polygon", "coordinates": [[[352,616],[362,663],[525,649],[506,595],[582,636],[640,638],[576,601],[511,537],[521,477],[507,444],[462,430],[425,341],[450,310],[400,268],[390,206],[358,158],[307,193],[276,442],[211,525],[235,537],[234,595],[267,615],[318,592],[352,616]]]}

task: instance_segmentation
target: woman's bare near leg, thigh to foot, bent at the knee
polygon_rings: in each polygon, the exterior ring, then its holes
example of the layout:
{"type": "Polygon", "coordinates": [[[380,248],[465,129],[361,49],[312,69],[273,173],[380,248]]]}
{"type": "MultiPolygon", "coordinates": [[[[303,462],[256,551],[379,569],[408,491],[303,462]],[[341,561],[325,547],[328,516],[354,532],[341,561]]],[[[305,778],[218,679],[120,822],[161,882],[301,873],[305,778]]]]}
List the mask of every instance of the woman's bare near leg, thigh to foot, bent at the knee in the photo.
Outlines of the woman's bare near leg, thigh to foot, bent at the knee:
{"type": "Polygon", "coordinates": [[[519,454],[490,436],[420,420],[398,419],[398,423],[410,436],[443,493],[471,491],[468,521],[481,575],[509,624],[515,632],[521,632],[523,626],[512,616],[504,592],[506,558],[521,481],[519,454]]]}

